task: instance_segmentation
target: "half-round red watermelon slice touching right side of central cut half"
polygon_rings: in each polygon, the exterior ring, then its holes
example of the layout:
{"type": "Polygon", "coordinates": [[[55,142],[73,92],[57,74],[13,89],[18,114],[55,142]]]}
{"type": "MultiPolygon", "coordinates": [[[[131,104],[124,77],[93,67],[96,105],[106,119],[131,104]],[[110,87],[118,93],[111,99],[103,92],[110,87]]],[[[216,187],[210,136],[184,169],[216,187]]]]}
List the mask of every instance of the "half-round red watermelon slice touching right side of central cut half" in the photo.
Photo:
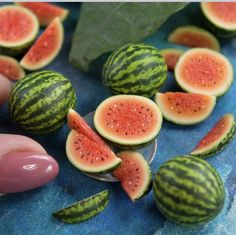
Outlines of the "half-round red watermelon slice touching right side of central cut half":
{"type": "Polygon", "coordinates": [[[164,118],[180,125],[192,125],[205,120],[213,111],[216,97],[184,92],[156,93],[155,102],[164,118]]]}

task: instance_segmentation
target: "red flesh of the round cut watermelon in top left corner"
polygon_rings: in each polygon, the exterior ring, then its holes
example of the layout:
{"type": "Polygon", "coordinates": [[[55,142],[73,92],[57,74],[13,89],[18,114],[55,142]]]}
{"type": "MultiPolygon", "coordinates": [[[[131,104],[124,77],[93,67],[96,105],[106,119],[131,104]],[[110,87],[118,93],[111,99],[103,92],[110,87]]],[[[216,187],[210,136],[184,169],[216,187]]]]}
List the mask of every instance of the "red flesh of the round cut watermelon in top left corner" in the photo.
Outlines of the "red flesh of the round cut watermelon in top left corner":
{"type": "Polygon", "coordinates": [[[0,10],[0,42],[19,43],[32,35],[35,21],[18,8],[0,10]]]}

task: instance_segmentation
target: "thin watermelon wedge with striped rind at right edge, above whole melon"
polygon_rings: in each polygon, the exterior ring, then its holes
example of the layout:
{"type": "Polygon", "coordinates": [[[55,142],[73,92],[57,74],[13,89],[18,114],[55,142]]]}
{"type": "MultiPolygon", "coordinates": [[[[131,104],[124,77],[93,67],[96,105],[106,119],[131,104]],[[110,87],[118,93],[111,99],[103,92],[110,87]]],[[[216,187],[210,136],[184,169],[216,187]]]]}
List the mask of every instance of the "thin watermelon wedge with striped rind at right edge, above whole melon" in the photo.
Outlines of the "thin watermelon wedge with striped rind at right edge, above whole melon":
{"type": "Polygon", "coordinates": [[[221,152],[234,137],[235,130],[234,115],[231,113],[224,115],[198,143],[191,155],[210,157],[221,152]]]}

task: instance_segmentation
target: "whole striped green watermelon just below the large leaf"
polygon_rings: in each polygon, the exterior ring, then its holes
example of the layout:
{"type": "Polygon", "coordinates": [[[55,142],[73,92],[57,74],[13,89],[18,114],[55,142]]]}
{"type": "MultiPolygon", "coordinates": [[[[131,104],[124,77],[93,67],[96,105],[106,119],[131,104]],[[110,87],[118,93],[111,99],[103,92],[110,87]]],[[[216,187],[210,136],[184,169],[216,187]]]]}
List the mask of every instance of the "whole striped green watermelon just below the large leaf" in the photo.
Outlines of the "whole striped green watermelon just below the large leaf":
{"type": "Polygon", "coordinates": [[[167,66],[160,51],[145,44],[121,47],[103,67],[103,84],[115,94],[152,97],[166,77],[167,66]]]}

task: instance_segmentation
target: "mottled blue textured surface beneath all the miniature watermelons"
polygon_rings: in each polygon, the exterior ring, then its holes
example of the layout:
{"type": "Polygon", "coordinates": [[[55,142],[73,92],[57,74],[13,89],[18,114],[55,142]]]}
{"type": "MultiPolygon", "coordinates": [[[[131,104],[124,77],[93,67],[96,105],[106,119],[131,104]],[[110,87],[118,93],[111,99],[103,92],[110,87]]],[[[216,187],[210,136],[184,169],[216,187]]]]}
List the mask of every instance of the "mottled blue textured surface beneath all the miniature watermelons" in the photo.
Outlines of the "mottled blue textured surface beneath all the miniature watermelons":
{"type": "MultiPolygon", "coordinates": [[[[75,28],[79,5],[68,4],[71,14],[65,22],[65,43],[58,58],[47,67],[64,74],[77,91],[76,110],[85,115],[110,92],[102,86],[101,79],[81,73],[68,63],[68,52],[72,32],[75,28]]],[[[183,11],[172,16],[153,36],[145,40],[158,48],[170,47],[166,43],[168,33],[179,25],[201,25],[197,4],[191,4],[183,11]]],[[[78,42],[79,43],[79,42],[78,42]]],[[[222,53],[233,66],[236,66],[236,39],[221,40],[222,53]]],[[[173,46],[172,46],[173,47],[173,46]]],[[[169,74],[163,91],[179,89],[169,74]]],[[[203,123],[190,127],[176,126],[164,122],[158,137],[158,151],[151,165],[153,172],[166,160],[175,155],[186,154],[223,114],[236,115],[236,84],[221,97],[213,114],[203,123]]],[[[219,171],[227,188],[227,200],[219,217],[195,229],[182,228],[165,218],[157,210],[152,192],[136,203],[132,203],[121,189],[119,183],[105,183],[90,179],[74,168],[65,155],[65,139],[68,134],[66,125],[47,137],[33,136],[11,126],[6,105],[0,108],[0,132],[20,133],[39,141],[55,157],[60,166],[58,177],[51,183],[36,190],[0,197],[0,234],[1,235],[38,235],[38,234],[235,234],[236,220],[236,141],[222,153],[209,159],[219,171]],[[64,225],[55,220],[51,213],[77,200],[90,196],[103,189],[110,192],[108,207],[98,216],[77,225],[64,225]]]]}

